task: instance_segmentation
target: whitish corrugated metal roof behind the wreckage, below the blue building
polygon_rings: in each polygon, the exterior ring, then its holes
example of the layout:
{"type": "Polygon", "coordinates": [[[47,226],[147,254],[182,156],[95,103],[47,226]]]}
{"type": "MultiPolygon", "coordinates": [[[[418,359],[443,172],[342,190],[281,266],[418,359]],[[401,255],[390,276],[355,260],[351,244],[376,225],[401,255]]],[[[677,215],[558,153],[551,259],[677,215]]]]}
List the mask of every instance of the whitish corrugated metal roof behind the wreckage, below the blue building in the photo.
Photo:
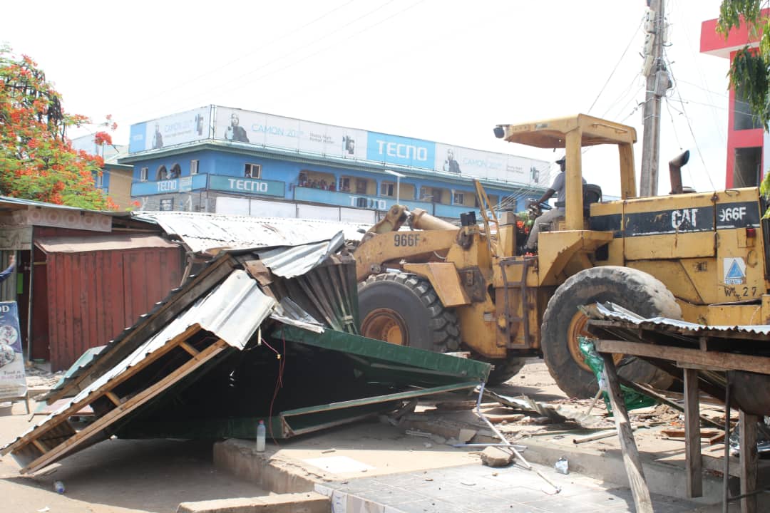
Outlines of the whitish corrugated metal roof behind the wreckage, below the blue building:
{"type": "Polygon", "coordinates": [[[370,225],[313,219],[256,218],[199,212],[135,212],[134,218],[159,224],[176,235],[192,252],[213,248],[263,248],[326,241],[338,232],[346,240],[360,240],[358,230],[370,225]]]}

